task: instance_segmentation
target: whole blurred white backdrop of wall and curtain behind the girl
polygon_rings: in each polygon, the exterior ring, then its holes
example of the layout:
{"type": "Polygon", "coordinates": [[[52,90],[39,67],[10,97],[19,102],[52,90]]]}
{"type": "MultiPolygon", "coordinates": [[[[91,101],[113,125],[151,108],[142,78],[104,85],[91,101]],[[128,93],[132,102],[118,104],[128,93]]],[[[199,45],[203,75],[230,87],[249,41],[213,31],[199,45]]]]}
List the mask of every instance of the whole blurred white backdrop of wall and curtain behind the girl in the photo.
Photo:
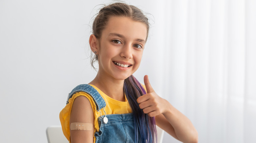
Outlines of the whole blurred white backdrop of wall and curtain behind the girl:
{"type": "MultiPolygon", "coordinates": [[[[96,75],[91,19],[106,0],[0,1],[0,138],[46,143],[68,93],[96,75]]],[[[185,114],[200,143],[256,142],[256,1],[127,0],[150,13],[135,77],[185,114]]],[[[164,134],[164,143],[179,143],[164,134]]]]}

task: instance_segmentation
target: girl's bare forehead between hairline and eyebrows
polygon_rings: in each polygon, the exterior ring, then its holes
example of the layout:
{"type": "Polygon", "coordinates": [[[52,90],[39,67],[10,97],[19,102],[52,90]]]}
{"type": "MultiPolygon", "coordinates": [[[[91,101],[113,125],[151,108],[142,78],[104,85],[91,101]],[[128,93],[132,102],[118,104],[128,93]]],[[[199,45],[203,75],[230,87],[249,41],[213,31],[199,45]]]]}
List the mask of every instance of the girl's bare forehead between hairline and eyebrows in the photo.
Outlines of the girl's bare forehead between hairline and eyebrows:
{"type": "Polygon", "coordinates": [[[102,36],[107,37],[110,33],[118,33],[127,39],[146,40],[147,26],[141,22],[133,21],[123,16],[110,17],[102,36]]]}

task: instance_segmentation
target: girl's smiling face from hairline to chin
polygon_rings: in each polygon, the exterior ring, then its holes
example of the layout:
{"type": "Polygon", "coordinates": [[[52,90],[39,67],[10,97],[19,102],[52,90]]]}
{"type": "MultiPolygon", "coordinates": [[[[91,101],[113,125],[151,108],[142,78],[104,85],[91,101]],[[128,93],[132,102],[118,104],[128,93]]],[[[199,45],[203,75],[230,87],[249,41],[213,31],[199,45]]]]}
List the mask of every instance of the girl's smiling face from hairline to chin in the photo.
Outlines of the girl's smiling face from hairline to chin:
{"type": "Polygon", "coordinates": [[[99,39],[99,74],[119,80],[132,75],[139,68],[146,36],[145,24],[111,17],[99,39]]]}

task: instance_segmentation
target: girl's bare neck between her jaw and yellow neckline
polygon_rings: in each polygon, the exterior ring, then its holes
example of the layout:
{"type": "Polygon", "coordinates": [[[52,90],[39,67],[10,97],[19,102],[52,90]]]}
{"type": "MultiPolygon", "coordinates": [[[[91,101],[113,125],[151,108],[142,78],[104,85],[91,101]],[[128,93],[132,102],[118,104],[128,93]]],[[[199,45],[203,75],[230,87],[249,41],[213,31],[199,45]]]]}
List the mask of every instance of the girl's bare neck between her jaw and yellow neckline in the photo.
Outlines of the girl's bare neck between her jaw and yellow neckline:
{"type": "Polygon", "coordinates": [[[124,80],[117,80],[110,78],[108,76],[102,77],[98,72],[95,79],[91,81],[89,84],[96,86],[107,96],[117,101],[125,101],[123,91],[124,80]]]}

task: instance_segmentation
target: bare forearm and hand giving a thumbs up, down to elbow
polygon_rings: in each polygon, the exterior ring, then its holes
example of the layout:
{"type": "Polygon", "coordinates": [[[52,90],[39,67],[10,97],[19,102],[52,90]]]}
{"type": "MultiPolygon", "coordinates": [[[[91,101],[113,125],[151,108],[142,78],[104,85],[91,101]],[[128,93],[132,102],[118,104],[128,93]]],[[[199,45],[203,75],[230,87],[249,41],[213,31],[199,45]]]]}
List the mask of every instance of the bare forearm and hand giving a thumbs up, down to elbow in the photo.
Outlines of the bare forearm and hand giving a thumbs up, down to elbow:
{"type": "Polygon", "coordinates": [[[151,87],[148,76],[144,76],[147,94],[137,99],[139,107],[150,117],[156,117],[156,124],[184,143],[197,143],[198,133],[191,121],[174,108],[167,100],[159,97],[151,87]]]}

